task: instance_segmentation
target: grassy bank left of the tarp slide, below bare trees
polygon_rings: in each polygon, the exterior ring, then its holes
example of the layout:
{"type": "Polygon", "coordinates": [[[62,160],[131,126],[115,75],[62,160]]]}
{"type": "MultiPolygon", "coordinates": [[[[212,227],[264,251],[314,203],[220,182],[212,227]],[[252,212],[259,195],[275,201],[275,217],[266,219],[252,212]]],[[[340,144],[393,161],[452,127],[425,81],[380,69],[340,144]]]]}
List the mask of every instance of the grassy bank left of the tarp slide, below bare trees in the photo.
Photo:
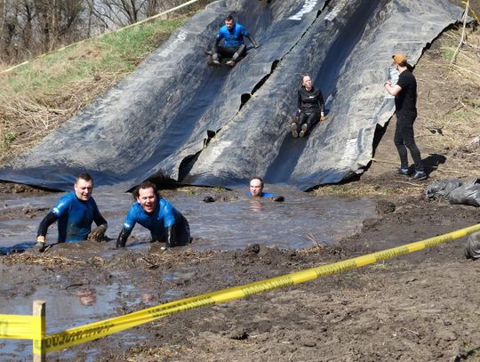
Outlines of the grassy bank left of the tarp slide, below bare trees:
{"type": "Polygon", "coordinates": [[[33,146],[130,74],[184,21],[158,20],[125,28],[0,74],[0,164],[33,146]]]}

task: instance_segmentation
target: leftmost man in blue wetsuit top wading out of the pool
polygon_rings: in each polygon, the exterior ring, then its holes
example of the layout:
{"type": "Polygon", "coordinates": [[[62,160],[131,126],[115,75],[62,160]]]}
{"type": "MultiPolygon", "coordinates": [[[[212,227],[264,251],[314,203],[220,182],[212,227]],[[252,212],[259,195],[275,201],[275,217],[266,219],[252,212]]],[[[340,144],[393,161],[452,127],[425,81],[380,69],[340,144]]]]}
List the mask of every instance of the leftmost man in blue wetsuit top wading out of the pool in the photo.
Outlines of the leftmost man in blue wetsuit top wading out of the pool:
{"type": "Polygon", "coordinates": [[[88,239],[103,241],[107,231],[107,221],[101,215],[92,197],[93,180],[89,173],[76,176],[73,192],[61,197],[57,205],[46,214],[36,233],[36,250],[44,252],[47,229],[58,221],[59,243],[77,242],[88,239]],[[92,229],[92,222],[97,227],[92,229]]]}

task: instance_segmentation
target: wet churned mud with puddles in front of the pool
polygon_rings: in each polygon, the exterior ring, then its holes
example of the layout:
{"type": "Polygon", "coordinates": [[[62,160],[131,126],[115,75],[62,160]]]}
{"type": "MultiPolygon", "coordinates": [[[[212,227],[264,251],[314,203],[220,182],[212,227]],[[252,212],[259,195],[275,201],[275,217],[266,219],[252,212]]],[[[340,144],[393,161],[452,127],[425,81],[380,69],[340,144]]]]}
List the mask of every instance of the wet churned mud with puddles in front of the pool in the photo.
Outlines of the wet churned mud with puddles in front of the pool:
{"type": "MultiPolygon", "coordinates": [[[[178,193],[168,197],[175,199],[178,193]]],[[[218,202],[238,202],[233,193],[223,196],[225,201],[218,202]]],[[[186,248],[165,253],[159,245],[113,251],[113,242],[84,242],[52,247],[41,256],[29,251],[4,256],[2,275],[9,283],[2,286],[2,311],[29,314],[34,299],[55,298],[56,308],[48,308],[47,302],[52,333],[372,253],[480,220],[476,208],[426,202],[420,192],[373,202],[378,215],[327,247],[249,245],[226,252],[186,248]]],[[[137,241],[142,245],[146,239],[137,241]]],[[[300,286],[175,314],[49,356],[78,361],[479,360],[480,263],[463,258],[463,243],[457,240],[300,286]]],[[[1,345],[3,358],[9,360],[23,360],[30,351],[28,342],[1,345]]]]}

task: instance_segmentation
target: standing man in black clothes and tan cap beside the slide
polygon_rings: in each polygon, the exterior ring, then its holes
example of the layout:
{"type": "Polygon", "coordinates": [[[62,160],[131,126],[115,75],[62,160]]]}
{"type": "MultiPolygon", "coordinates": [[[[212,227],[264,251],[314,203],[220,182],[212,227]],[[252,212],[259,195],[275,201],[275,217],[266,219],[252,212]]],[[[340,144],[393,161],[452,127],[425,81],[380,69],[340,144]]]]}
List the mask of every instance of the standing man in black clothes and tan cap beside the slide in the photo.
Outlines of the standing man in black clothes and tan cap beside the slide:
{"type": "Polygon", "coordinates": [[[415,144],[413,133],[413,122],[417,118],[417,81],[404,54],[395,54],[392,58],[399,73],[398,81],[395,85],[388,81],[384,86],[387,92],[395,97],[396,130],[394,142],[400,157],[400,168],[396,173],[405,176],[409,174],[407,155],[407,149],[409,149],[415,164],[415,173],[412,180],[424,180],[427,178],[427,174],[424,172],[420,150],[415,144]]]}

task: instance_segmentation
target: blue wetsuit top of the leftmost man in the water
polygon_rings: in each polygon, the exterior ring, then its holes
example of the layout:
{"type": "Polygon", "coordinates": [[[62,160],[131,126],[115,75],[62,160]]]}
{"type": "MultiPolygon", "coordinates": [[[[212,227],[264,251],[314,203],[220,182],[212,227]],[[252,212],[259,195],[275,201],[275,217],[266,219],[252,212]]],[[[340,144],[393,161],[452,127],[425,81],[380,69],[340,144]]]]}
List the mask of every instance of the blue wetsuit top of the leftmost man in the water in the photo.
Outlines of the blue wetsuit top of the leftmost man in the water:
{"type": "Polygon", "coordinates": [[[93,197],[83,201],[78,199],[73,191],[61,197],[51,211],[59,218],[59,243],[86,240],[92,229],[92,222],[99,224],[105,221],[93,197]]]}

